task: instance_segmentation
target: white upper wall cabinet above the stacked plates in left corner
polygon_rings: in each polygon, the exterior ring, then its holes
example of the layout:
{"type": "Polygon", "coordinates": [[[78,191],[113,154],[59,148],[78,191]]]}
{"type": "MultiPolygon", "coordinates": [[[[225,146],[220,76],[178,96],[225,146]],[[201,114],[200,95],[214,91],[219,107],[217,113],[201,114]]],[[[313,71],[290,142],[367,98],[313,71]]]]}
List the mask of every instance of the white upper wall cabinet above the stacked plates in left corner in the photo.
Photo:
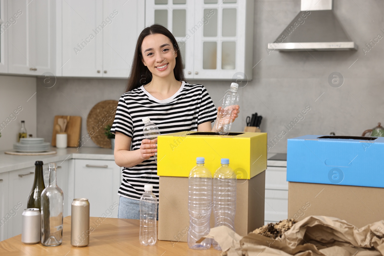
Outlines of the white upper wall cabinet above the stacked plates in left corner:
{"type": "Polygon", "coordinates": [[[8,72],[41,75],[55,65],[55,1],[8,1],[8,72]]]}

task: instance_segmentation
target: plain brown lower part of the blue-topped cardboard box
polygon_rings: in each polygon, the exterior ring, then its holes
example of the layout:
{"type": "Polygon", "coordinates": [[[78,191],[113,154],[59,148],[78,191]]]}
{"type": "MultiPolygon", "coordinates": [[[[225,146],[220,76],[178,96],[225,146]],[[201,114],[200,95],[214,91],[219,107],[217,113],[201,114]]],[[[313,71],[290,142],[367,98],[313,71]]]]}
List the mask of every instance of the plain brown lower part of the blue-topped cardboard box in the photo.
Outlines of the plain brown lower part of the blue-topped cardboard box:
{"type": "Polygon", "coordinates": [[[384,188],[288,182],[288,218],[324,215],[358,228],[384,220],[384,188]]]}

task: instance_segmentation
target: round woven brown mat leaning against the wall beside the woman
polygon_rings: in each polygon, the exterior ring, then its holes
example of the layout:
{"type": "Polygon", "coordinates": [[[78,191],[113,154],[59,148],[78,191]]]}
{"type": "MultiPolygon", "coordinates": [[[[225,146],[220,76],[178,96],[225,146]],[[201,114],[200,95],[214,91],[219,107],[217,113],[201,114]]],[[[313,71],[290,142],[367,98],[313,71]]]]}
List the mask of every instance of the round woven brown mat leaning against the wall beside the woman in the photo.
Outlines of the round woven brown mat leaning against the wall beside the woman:
{"type": "Polygon", "coordinates": [[[111,141],[104,134],[104,128],[108,125],[112,126],[118,103],[113,100],[101,101],[88,113],[87,132],[92,134],[91,139],[99,147],[111,148],[111,141]]]}

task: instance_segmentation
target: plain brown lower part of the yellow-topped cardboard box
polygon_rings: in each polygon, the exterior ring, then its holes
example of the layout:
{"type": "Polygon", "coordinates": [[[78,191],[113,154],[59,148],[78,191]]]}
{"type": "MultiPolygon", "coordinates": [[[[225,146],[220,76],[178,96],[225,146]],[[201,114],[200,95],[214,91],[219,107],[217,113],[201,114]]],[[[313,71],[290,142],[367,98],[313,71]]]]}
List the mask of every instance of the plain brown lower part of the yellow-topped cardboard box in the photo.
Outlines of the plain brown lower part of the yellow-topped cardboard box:
{"type": "MultiPolygon", "coordinates": [[[[188,177],[159,177],[159,240],[187,242],[188,177]]],[[[264,225],[265,171],[237,180],[235,231],[241,236],[264,225]]],[[[211,227],[214,215],[211,213],[211,227]]]]}

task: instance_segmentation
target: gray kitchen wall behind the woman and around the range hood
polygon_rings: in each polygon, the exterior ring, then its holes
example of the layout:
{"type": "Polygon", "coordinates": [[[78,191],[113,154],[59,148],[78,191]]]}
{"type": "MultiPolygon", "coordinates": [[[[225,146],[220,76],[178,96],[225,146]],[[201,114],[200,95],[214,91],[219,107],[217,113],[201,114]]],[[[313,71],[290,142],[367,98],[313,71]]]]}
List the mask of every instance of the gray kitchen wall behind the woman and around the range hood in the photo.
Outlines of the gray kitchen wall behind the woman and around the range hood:
{"type": "MultiPolygon", "coordinates": [[[[282,130],[287,132],[283,139],[275,140],[275,145],[270,144],[273,146],[270,152],[286,152],[288,138],[330,132],[361,135],[377,122],[384,122],[384,38],[369,52],[364,54],[362,51],[378,34],[384,36],[381,31],[384,30],[384,2],[334,0],[336,17],[359,45],[358,51],[273,51],[268,54],[267,43],[274,41],[299,11],[300,0],[255,1],[253,65],[261,61],[253,68],[253,80],[239,90],[241,113],[233,124],[233,131],[242,131],[245,117],[252,112],[262,114],[261,129],[268,132],[268,139],[277,137],[282,130]],[[333,72],[344,77],[344,84],[339,88],[328,84],[328,76],[333,72]],[[306,106],[311,110],[288,130],[285,125],[294,121],[306,106]]],[[[223,81],[189,82],[204,84],[216,106],[220,106],[220,99],[229,84],[223,81]]],[[[97,102],[118,99],[125,83],[121,79],[58,79],[53,88],[46,89],[39,86],[38,79],[38,136],[50,141],[55,115],[81,116],[82,112],[87,116],[97,102]]],[[[83,117],[83,135],[86,134],[85,127],[83,117]]],[[[95,145],[90,142],[86,146],[95,145]]]]}

